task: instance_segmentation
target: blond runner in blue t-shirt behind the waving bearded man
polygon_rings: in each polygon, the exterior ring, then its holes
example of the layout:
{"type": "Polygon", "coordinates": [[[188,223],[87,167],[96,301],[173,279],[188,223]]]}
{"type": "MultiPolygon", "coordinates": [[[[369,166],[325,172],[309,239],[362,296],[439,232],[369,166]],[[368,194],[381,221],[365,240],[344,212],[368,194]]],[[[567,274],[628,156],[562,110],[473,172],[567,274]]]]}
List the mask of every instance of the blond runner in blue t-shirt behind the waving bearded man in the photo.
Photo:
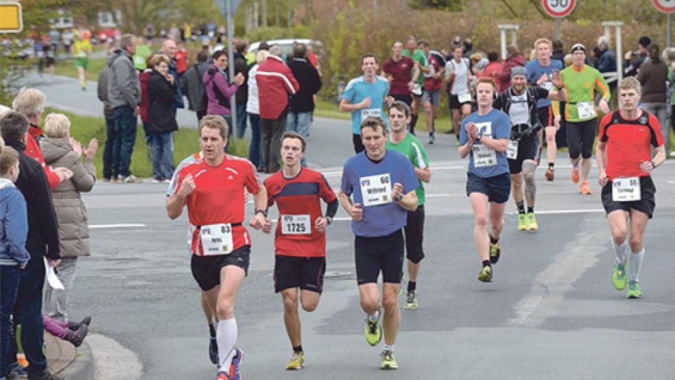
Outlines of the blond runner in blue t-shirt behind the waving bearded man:
{"type": "MultiPolygon", "coordinates": [[[[525,69],[528,71],[528,84],[530,86],[541,86],[546,88],[548,91],[555,91],[557,88],[554,86],[551,78],[553,73],[560,72],[563,69],[562,62],[559,60],[551,60],[551,51],[552,44],[551,41],[546,38],[539,38],[534,42],[534,49],[536,49],[536,54],[538,59],[528,62],[525,65],[525,69]]],[[[558,147],[556,146],[556,128],[553,111],[551,110],[551,101],[548,99],[539,99],[536,102],[538,108],[538,118],[541,126],[543,126],[543,132],[546,134],[546,158],[548,159],[548,169],[546,170],[546,180],[552,181],[554,178],[554,167],[556,163],[556,152],[558,147]]],[[[539,145],[541,146],[543,136],[542,130],[539,130],[539,145]]]]}

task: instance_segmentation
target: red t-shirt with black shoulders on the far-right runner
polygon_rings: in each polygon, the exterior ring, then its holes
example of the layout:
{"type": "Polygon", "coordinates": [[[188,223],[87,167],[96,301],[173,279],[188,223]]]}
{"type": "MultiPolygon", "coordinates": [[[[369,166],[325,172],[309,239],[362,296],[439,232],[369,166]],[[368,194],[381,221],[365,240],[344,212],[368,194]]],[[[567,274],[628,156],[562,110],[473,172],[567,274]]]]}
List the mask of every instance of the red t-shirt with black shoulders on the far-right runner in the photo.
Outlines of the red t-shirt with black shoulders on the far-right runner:
{"type": "Polygon", "coordinates": [[[641,110],[637,119],[625,119],[619,110],[608,113],[600,121],[601,142],[606,143],[606,173],[616,177],[643,177],[649,174],[640,163],[652,160],[651,146],[663,145],[659,119],[641,110]]]}

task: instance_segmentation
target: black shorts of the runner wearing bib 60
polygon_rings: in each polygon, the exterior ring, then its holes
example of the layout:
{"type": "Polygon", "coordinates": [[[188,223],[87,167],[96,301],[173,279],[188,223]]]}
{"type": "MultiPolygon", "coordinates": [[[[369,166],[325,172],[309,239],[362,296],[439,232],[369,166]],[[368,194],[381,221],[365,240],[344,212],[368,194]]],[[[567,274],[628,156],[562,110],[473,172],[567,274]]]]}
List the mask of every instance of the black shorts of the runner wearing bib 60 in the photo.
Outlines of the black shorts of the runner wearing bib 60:
{"type": "Polygon", "coordinates": [[[401,283],[403,273],[403,231],[378,237],[354,239],[356,278],[359,285],[377,283],[382,272],[385,283],[401,283]]]}

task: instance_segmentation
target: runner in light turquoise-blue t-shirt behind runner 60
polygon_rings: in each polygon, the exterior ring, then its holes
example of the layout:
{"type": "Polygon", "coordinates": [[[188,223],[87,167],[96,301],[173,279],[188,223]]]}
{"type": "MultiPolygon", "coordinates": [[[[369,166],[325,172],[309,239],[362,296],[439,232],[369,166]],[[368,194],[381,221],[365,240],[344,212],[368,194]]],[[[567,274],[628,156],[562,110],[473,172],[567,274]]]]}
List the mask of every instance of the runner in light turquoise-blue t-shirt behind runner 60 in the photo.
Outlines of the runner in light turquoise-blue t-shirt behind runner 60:
{"type": "Polygon", "coordinates": [[[361,141],[361,121],[368,116],[381,117],[385,124],[383,102],[394,102],[389,95],[389,81],[377,75],[377,57],[375,54],[364,54],[361,58],[361,69],[364,75],[350,80],[340,95],[340,112],[352,114],[352,143],[357,153],[364,151],[361,141]]]}

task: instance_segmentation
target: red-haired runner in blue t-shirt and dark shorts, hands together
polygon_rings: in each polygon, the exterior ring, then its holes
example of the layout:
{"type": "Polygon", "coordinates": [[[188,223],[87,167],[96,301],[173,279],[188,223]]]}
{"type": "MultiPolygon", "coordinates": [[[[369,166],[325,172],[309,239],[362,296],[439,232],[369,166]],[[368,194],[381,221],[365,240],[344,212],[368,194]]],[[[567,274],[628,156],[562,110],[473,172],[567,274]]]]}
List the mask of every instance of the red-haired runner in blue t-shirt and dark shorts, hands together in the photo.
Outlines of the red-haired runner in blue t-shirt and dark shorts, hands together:
{"type": "Polygon", "coordinates": [[[483,264],[478,280],[484,283],[492,281],[491,264],[497,263],[501,255],[499,235],[504,229],[504,210],[511,190],[506,158],[511,123],[504,112],[493,108],[496,90],[493,78],[479,78],[476,84],[478,110],[462,121],[459,147],[462,158],[469,156],[466,195],[475,215],[473,238],[483,264]]]}

